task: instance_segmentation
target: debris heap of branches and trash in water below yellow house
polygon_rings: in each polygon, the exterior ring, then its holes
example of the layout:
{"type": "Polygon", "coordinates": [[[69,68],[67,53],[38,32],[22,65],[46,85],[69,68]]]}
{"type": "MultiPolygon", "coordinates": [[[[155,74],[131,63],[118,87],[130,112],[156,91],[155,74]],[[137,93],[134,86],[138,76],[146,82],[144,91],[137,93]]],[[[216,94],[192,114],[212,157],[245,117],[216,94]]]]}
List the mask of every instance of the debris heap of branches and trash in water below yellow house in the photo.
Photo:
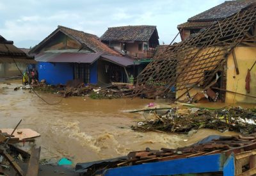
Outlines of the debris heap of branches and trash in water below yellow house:
{"type": "Polygon", "coordinates": [[[132,129],[139,131],[189,132],[201,128],[218,131],[235,131],[243,134],[256,132],[256,109],[222,108],[217,110],[190,108],[180,111],[170,108],[164,113],[154,113],[155,119],[138,122],[132,129]]]}

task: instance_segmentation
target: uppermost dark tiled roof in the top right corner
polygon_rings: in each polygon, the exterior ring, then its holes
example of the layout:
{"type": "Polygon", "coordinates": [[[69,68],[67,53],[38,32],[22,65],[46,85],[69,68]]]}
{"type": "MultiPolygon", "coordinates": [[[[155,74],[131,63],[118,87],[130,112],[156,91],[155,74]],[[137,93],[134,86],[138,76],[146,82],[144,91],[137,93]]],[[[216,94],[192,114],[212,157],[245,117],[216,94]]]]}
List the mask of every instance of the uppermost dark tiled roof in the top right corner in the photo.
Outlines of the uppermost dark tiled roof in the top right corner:
{"type": "Polygon", "coordinates": [[[246,8],[247,6],[255,2],[255,0],[225,1],[218,6],[214,6],[213,8],[210,8],[205,12],[199,13],[198,15],[189,18],[188,22],[224,19],[230,17],[231,15],[234,15],[243,8],[246,8]]]}

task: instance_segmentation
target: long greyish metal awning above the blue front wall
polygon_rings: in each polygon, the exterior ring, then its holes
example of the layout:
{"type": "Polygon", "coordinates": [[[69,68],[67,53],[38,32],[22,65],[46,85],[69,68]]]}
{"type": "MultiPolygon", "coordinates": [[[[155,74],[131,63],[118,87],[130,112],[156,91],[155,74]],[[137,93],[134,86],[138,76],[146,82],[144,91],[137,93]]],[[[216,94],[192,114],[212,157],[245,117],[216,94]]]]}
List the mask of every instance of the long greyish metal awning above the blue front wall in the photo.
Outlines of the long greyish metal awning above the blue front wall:
{"type": "Polygon", "coordinates": [[[43,62],[69,62],[69,63],[93,63],[102,52],[93,53],[40,53],[35,56],[36,61],[43,62]]]}

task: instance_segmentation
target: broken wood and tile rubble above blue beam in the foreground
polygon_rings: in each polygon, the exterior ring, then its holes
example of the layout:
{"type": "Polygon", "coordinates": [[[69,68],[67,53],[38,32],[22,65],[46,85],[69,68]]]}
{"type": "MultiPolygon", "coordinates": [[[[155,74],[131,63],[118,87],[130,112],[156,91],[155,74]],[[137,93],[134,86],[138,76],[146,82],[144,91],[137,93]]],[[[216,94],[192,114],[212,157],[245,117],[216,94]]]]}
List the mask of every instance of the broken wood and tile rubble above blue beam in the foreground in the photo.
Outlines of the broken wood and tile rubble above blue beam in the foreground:
{"type": "Polygon", "coordinates": [[[95,161],[92,163],[77,163],[76,171],[85,172],[84,175],[92,173],[103,173],[109,168],[118,168],[122,166],[133,166],[144,163],[154,163],[158,161],[170,161],[173,159],[182,159],[196,156],[208,156],[212,154],[239,154],[245,151],[256,149],[256,134],[250,136],[208,136],[202,141],[181,148],[161,148],[161,150],[139,150],[130,152],[127,157],[95,161]]]}

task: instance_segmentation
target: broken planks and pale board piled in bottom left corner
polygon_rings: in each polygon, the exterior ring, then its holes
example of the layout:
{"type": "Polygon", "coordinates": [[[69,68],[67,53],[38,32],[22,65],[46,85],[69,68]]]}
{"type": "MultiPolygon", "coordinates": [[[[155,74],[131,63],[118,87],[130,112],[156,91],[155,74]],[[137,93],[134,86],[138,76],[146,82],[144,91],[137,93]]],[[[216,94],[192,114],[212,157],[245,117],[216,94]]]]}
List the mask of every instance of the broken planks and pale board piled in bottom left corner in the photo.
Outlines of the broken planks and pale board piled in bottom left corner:
{"type": "Polygon", "coordinates": [[[40,134],[31,129],[17,130],[17,126],[15,129],[0,129],[0,175],[37,175],[40,147],[35,147],[35,138],[40,134]],[[30,154],[24,150],[28,143],[31,146],[30,154]],[[19,162],[28,163],[26,173],[20,168],[19,162]]]}

